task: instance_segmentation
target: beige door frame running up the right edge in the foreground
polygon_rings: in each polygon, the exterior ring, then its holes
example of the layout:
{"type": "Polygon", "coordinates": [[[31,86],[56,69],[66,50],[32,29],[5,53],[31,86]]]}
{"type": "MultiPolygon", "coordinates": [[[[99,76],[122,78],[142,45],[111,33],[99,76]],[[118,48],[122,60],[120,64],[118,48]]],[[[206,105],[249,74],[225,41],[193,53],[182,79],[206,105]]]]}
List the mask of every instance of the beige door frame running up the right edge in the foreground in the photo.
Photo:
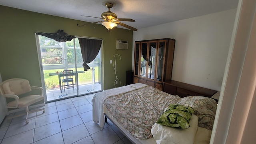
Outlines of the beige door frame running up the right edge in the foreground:
{"type": "Polygon", "coordinates": [[[256,1],[239,0],[210,144],[255,142],[256,1]]]}

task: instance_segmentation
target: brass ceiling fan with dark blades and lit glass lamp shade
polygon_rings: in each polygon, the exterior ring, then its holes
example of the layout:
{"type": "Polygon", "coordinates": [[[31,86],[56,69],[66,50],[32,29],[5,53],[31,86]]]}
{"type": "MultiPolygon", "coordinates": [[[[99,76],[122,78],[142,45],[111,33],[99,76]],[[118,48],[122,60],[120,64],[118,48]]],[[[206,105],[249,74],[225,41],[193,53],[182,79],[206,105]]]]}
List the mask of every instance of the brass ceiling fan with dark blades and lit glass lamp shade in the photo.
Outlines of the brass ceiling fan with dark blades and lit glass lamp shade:
{"type": "MultiPolygon", "coordinates": [[[[134,30],[134,31],[137,30],[136,28],[134,28],[132,26],[128,26],[127,24],[119,22],[119,21],[135,22],[135,20],[130,19],[130,18],[117,18],[115,13],[110,12],[110,8],[112,8],[113,4],[110,3],[110,2],[107,2],[105,4],[105,6],[108,8],[108,11],[103,12],[101,14],[101,18],[100,18],[100,19],[103,19],[104,21],[98,21],[98,22],[102,22],[102,25],[105,26],[108,30],[117,26],[117,24],[120,25],[120,26],[124,26],[124,27],[126,27],[130,30],[134,30]]],[[[86,16],[86,17],[98,18],[98,17],[94,17],[94,16],[86,16]]],[[[90,24],[96,24],[98,22],[92,22],[90,24]]],[[[81,26],[85,26],[85,25],[89,25],[89,24],[84,24],[84,25],[81,25],[81,26]]]]}

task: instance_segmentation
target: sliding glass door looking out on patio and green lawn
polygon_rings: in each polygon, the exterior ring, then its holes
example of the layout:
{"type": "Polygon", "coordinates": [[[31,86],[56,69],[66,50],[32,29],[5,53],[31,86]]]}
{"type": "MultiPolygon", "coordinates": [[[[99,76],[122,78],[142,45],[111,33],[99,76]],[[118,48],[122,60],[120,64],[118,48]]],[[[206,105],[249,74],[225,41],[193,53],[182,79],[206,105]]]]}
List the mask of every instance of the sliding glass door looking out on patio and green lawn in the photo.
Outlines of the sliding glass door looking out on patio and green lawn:
{"type": "Polygon", "coordinates": [[[78,38],[70,42],[57,42],[40,35],[36,35],[36,38],[47,102],[102,91],[101,50],[88,64],[91,68],[84,72],[78,38]],[[64,70],[73,70],[73,83],[63,82],[64,70]]]}

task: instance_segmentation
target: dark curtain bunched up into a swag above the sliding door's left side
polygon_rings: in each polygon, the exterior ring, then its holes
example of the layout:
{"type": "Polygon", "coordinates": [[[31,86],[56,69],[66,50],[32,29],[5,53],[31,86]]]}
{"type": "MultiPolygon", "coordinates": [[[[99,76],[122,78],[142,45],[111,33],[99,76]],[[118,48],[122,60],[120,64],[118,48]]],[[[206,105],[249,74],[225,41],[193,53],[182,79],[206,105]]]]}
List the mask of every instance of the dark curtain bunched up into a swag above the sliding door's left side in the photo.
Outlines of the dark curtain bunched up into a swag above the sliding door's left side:
{"type": "Polygon", "coordinates": [[[38,32],[37,34],[41,36],[46,36],[47,38],[52,38],[57,42],[71,41],[73,38],[76,38],[74,36],[68,36],[68,34],[64,32],[64,30],[58,30],[58,32],[55,32],[54,34],[40,32],[38,32]]]}

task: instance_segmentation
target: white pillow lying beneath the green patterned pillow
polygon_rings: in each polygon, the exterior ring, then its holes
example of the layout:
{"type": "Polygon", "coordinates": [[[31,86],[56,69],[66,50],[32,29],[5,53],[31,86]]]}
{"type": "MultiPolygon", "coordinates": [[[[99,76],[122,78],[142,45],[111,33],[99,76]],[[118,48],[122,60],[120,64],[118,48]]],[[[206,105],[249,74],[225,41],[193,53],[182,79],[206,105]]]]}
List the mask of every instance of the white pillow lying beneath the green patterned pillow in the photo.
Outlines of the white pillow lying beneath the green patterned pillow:
{"type": "Polygon", "coordinates": [[[198,128],[198,116],[192,114],[187,129],[154,124],[151,133],[157,144],[193,144],[198,128]]]}

